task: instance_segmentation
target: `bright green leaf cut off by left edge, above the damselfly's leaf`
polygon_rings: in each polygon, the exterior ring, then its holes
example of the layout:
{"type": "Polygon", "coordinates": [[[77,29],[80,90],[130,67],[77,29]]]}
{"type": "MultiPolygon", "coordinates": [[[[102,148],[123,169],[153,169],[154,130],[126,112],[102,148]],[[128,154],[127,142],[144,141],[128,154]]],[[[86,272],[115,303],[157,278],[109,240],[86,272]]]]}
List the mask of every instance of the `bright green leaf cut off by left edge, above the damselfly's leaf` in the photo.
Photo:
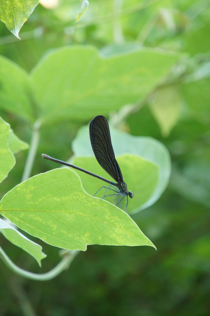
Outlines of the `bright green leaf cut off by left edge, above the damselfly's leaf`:
{"type": "Polygon", "coordinates": [[[8,147],[10,126],[0,117],[0,182],[5,179],[15,165],[15,157],[8,147]]]}

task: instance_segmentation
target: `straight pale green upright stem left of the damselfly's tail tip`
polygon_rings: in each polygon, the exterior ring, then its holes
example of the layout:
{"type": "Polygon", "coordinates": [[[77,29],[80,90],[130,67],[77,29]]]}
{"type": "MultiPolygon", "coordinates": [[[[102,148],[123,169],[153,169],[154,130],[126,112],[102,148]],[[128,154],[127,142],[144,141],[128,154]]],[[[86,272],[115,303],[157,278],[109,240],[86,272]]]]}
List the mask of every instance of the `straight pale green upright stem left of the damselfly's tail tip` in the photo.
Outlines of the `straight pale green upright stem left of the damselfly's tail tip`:
{"type": "Polygon", "coordinates": [[[36,120],[32,129],[31,142],[28,150],[25,168],[22,175],[21,182],[27,180],[31,175],[31,170],[34,164],[37,148],[40,140],[40,120],[36,120]]]}

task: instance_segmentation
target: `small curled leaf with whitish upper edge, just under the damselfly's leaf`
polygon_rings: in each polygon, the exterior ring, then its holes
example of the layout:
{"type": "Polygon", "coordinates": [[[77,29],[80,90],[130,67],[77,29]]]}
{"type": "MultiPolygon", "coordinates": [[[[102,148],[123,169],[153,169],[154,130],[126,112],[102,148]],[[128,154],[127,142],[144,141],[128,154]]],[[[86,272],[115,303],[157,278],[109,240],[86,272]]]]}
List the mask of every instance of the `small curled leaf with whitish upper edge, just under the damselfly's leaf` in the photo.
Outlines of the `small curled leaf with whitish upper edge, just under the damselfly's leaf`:
{"type": "Polygon", "coordinates": [[[33,256],[41,267],[41,259],[45,258],[46,254],[41,251],[42,247],[40,245],[28,239],[15,229],[8,221],[3,220],[2,218],[0,218],[0,231],[13,245],[20,247],[33,256]]]}

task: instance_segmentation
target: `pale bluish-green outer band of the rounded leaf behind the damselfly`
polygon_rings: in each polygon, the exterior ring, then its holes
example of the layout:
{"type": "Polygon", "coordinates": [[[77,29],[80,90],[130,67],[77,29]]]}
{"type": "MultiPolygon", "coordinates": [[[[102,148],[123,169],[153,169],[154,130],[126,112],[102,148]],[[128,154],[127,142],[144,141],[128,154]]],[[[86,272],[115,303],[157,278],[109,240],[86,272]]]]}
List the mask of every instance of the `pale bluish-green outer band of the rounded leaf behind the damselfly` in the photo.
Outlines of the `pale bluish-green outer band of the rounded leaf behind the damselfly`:
{"type": "MultiPolygon", "coordinates": [[[[158,168],[158,182],[156,184],[156,187],[152,195],[143,204],[139,204],[138,209],[136,210],[132,209],[130,210],[130,212],[134,213],[136,211],[143,210],[146,207],[149,207],[152,204],[154,204],[158,200],[158,198],[161,196],[166,186],[168,185],[170,171],[171,171],[171,162],[170,162],[169,152],[162,143],[158,142],[156,139],[153,139],[151,137],[132,136],[128,133],[118,131],[112,127],[110,127],[110,133],[111,133],[111,139],[112,139],[115,155],[123,155],[125,153],[139,155],[145,158],[146,160],[155,163],[159,167],[158,168]]],[[[84,157],[84,156],[94,157],[94,153],[90,144],[88,126],[82,127],[78,131],[77,137],[72,142],[72,150],[76,157],[84,157]]],[[[120,165],[120,168],[121,168],[121,165],[120,165]]],[[[128,169],[127,176],[129,177],[129,174],[131,174],[132,176],[130,183],[127,181],[127,185],[130,190],[132,189],[132,181],[133,181],[132,179],[135,178],[135,170],[132,170],[131,163],[127,166],[127,169],[128,169]],[[129,170],[131,170],[130,173],[129,173],[129,170]]],[[[125,170],[124,173],[127,173],[127,171],[125,170]]],[[[124,173],[123,173],[123,176],[124,176],[124,173]]],[[[125,176],[124,178],[126,179],[125,176]]],[[[144,179],[145,179],[144,176],[140,177],[139,181],[144,181],[144,179]]],[[[141,195],[140,191],[138,192],[138,195],[141,195]]],[[[133,200],[134,200],[134,197],[133,197],[133,200]]]]}

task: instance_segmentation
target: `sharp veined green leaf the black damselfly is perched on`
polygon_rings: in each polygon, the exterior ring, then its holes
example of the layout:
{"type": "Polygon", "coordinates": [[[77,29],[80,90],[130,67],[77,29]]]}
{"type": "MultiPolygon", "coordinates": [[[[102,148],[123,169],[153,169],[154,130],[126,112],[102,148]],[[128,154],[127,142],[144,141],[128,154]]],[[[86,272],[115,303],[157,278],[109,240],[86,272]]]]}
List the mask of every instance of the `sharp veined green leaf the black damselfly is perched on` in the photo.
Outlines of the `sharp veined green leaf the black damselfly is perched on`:
{"type": "Polygon", "coordinates": [[[91,197],[69,168],[34,176],[9,191],[1,214],[46,243],[72,250],[87,245],[154,246],[130,216],[91,197]]]}

